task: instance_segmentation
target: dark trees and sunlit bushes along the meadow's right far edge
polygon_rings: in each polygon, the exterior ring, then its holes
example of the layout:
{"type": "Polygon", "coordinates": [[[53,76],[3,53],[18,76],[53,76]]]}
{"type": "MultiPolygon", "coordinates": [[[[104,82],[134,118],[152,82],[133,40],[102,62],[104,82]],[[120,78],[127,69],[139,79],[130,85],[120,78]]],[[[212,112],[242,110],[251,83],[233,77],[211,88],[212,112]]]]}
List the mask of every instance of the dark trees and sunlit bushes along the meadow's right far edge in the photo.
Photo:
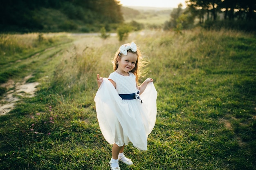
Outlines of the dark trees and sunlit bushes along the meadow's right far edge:
{"type": "Polygon", "coordinates": [[[195,25],[212,29],[256,30],[256,0],[186,0],[173,9],[164,30],[190,29],[195,25]],[[196,19],[198,19],[197,22],[196,19]]]}

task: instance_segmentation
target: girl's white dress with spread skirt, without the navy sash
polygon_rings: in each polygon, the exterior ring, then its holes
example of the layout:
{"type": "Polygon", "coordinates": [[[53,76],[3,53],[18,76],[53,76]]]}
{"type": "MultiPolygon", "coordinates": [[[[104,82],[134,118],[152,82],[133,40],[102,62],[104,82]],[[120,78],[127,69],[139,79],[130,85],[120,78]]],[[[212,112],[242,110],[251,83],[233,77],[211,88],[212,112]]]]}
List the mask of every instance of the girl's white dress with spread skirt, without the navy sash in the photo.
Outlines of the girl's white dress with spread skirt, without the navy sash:
{"type": "Polygon", "coordinates": [[[137,93],[135,79],[131,72],[129,76],[111,73],[108,79],[103,78],[94,102],[99,127],[109,144],[123,146],[132,142],[135,148],[147,150],[147,138],[155,126],[157,115],[157,91],[151,82],[140,99],[122,99],[119,94],[137,93]],[[116,88],[109,79],[116,83],[116,88]]]}

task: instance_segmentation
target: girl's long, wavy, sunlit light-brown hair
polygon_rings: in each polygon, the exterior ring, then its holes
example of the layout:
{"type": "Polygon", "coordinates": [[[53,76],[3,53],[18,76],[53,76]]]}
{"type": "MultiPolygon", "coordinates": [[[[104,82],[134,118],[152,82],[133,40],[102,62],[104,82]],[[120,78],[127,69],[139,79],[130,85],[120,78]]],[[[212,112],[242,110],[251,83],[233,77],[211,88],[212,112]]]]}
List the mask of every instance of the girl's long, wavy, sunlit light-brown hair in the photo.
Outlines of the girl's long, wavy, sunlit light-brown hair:
{"type": "MultiPolygon", "coordinates": [[[[130,43],[128,44],[124,44],[125,46],[130,45],[130,43]]],[[[144,58],[141,55],[141,51],[138,49],[137,47],[137,51],[133,52],[131,49],[127,50],[127,52],[136,54],[137,57],[137,61],[135,63],[135,67],[132,69],[132,72],[135,76],[136,76],[136,82],[138,83],[139,79],[143,78],[146,76],[146,71],[143,71],[142,68],[144,66],[146,66],[148,64],[148,62],[146,62],[144,60],[144,58]]],[[[120,52],[120,50],[118,49],[118,51],[115,53],[115,56],[113,58],[113,70],[116,71],[118,68],[118,60],[120,60],[122,58],[124,54],[120,52]]]]}

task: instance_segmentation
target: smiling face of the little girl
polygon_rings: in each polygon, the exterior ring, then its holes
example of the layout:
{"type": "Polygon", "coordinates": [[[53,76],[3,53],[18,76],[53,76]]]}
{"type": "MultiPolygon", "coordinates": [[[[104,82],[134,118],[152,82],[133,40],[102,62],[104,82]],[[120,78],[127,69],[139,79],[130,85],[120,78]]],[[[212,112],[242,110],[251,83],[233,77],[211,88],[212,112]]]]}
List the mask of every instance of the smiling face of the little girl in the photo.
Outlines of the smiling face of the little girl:
{"type": "Polygon", "coordinates": [[[119,73],[128,73],[132,71],[137,62],[137,54],[128,52],[127,55],[122,55],[121,59],[119,58],[117,71],[119,73]]]}

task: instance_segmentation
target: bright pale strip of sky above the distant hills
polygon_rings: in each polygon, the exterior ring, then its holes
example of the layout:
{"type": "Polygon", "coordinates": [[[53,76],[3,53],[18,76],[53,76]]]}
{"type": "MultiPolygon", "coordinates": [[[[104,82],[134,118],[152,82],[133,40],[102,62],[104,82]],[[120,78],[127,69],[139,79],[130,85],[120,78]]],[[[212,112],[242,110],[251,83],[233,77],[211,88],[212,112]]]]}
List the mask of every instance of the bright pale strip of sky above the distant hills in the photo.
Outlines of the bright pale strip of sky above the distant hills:
{"type": "Polygon", "coordinates": [[[186,7],[185,0],[119,0],[123,6],[139,6],[139,7],[164,7],[177,8],[182,3],[183,8],[186,7]]]}

